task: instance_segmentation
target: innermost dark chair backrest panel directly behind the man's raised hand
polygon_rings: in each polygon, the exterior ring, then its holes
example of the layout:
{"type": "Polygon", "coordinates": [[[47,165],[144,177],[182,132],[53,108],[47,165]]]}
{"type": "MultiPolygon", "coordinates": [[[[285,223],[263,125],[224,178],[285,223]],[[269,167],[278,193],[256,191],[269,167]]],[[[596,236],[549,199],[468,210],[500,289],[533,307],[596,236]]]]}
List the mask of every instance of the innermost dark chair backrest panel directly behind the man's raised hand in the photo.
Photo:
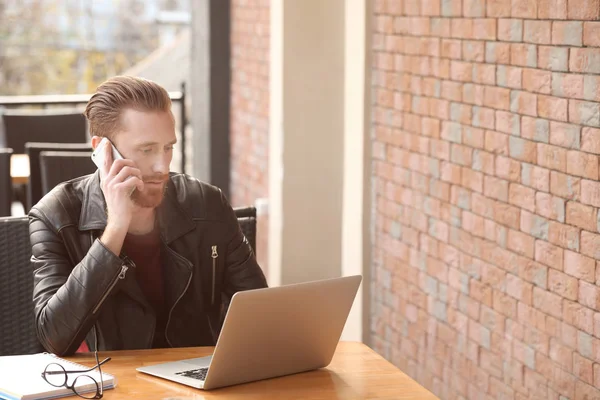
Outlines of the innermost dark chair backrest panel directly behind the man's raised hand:
{"type": "Polygon", "coordinates": [[[91,151],[42,151],[42,196],[59,183],[96,172],[91,151]]]}

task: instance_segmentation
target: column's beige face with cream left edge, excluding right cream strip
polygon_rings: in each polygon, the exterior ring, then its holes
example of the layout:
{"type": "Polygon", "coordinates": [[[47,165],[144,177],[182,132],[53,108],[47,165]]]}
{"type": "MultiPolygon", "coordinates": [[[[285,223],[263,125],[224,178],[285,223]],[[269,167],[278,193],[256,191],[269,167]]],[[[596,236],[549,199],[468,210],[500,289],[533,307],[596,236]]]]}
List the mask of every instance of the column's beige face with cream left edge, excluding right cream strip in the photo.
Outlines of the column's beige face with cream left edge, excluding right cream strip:
{"type": "Polygon", "coordinates": [[[344,0],[271,1],[269,281],[341,274],[344,0]]]}

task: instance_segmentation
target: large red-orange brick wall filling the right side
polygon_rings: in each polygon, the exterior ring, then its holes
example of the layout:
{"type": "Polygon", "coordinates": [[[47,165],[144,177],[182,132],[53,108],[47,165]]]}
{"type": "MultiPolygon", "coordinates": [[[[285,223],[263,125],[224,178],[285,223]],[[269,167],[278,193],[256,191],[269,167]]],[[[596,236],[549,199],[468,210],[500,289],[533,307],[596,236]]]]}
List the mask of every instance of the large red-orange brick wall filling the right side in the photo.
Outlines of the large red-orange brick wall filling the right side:
{"type": "Polygon", "coordinates": [[[374,12],[374,348],[443,399],[600,398],[599,1],[374,12]]]}

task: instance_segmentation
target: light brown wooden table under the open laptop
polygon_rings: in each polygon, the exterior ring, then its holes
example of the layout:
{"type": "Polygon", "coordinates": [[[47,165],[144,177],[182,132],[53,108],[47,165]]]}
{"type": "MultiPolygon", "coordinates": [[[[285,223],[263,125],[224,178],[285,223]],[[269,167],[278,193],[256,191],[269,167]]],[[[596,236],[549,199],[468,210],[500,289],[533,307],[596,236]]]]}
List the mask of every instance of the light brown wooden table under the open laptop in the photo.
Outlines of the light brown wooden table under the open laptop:
{"type": "MultiPolygon", "coordinates": [[[[100,352],[112,357],[102,367],[117,377],[117,387],[104,392],[115,399],[437,399],[431,392],[362,343],[341,342],[327,368],[230,386],[197,390],[137,372],[142,365],[203,357],[212,347],[100,352]]],[[[69,360],[95,364],[93,354],[76,354],[69,360]]]]}

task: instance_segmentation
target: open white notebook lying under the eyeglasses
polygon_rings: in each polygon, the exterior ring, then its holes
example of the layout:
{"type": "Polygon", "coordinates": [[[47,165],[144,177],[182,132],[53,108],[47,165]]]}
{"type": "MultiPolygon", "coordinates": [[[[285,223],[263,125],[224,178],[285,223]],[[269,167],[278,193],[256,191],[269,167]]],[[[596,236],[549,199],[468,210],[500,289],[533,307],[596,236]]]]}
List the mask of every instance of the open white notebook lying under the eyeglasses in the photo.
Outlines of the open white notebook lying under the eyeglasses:
{"type": "MultiPolygon", "coordinates": [[[[67,371],[85,370],[93,366],[86,367],[50,353],[0,357],[0,399],[36,400],[75,395],[71,389],[54,387],[42,378],[42,372],[51,363],[60,364],[67,371]]],[[[68,374],[69,385],[79,375],[89,375],[100,385],[100,373],[97,369],[82,374],[68,374]]],[[[103,371],[102,377],[104,379],[104,390],[117,386],[117,380],[114,376],[103,371]]],[[[87,386],[78,385],[77,387],[81,389],[78,390],[81,393],[96,390],[93,383],[87,386]]]]}

